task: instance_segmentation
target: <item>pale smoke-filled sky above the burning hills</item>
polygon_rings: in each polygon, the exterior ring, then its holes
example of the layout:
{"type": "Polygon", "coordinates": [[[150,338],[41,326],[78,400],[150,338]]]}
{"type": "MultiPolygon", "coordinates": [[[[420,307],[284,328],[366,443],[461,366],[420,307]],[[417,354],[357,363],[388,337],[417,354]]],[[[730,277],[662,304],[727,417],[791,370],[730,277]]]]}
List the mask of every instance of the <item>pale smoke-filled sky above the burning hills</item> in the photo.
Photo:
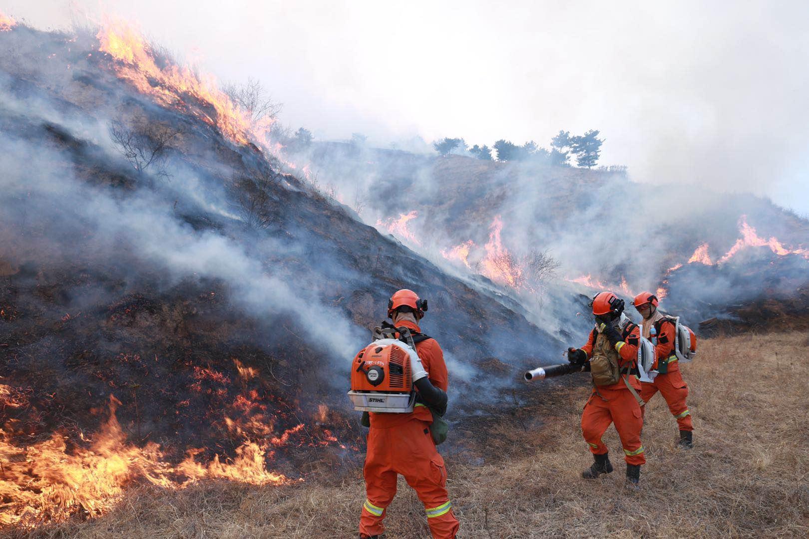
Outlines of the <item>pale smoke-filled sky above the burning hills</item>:
{"type": "Polygon", "coordinates": [[[650,183],[809,213],[807,2],[0,0],[36,27],[104,13],[223,81],[265,83],[320,139],[547,145],[601,130],[650,183]]]}

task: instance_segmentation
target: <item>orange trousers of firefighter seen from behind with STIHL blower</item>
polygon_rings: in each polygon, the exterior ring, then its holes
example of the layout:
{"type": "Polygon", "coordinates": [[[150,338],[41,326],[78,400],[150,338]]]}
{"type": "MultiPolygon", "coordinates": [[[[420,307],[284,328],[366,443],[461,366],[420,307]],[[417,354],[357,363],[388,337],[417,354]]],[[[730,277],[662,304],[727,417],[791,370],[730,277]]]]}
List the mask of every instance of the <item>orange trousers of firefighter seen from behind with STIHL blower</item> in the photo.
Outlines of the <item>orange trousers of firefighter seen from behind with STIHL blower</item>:
{"type": "Polygon", "coordinates": [[[396,495],[398,474],[424,503],[433,537],[451,539],[458,533],[460,524],[447,493],[444,459],[435,448],[429,427],[426,421],[410,419],[396,427],[371,427],[368,431],[368,453],[362,470],[367,498],[359,520],[361,537],[383,533],[382,520],[396,495]]]}

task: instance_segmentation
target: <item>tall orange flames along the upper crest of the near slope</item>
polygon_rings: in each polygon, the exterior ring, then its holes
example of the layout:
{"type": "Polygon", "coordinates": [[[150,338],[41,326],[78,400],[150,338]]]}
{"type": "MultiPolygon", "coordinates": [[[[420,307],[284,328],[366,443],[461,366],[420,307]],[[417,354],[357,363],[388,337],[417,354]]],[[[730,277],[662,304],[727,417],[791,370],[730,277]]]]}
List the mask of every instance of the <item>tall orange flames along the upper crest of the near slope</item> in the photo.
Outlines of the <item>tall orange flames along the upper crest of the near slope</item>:
{"type": "Polygon", "coordinates": [[[223,135],[238,144],[248,142],[254,129],[264,132],[269,124],[253,125],[245,112],[221,90],[210,76],[194,74],[188,67],[167,65],[161,69],[155,55],[140,32],[121,20],[108,22],[96,36],[100,51],[116,60],[116,74],[129,81],[142,94],[150,95],[167,107],[188,109],[201,120],[217,127],[223,135]],[[196,99],[210,107],[188,107],[188,99],[196,99]],[[210,114],[204,112],[205,109],[210,114]]]}

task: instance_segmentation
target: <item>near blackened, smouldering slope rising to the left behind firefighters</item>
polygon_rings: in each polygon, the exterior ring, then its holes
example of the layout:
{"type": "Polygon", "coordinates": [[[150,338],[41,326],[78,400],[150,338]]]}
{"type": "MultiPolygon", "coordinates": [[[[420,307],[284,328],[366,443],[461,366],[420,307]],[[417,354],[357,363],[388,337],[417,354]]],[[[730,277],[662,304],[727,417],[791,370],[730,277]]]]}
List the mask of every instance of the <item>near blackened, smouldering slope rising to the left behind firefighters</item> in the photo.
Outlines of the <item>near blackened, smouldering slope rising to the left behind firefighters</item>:
{"type": "Polygon", "coordinates": [[[0,51],[0,373],[30,405],[12,439],[92,429],[110,394],[178,453],[354,436],[322,405],[345,410],[346,365],[401,287],[429,298],[455,387],[556,344],[281,174],[199,92],[133,89],[95,36],[18,26],[0,51]]]}

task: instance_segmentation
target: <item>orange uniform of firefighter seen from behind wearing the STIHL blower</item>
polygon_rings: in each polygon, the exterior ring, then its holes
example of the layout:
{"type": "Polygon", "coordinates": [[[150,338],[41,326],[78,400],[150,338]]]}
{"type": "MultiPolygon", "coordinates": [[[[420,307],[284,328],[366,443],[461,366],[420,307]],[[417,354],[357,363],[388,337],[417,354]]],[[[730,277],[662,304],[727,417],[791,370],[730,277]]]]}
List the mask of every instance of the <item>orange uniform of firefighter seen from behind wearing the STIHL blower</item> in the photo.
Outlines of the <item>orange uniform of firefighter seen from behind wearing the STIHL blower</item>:
{"type": "MultiPolygon", "coordinates": [[[[396,326],[421,332],[419,326],[408,320],[401,320],[396,326]]],[[[447,365],[438,341],[426,339],[416,343],[416,352],[429,373],[430,382],[447,391],[447,365]]],[[[372,412],[370,417],[368,453],[362,470],[367,498],[359,521],[360,536],[383,533],[385,510],[396,495],[396,478],[401,474],[424,503],[433,537],[455,537],[460,524],[452,513],[447,493],[444,459],[430,434],[429,427],[433,422],[430,410],[417,404],[409,414],[372,412]]]]}

